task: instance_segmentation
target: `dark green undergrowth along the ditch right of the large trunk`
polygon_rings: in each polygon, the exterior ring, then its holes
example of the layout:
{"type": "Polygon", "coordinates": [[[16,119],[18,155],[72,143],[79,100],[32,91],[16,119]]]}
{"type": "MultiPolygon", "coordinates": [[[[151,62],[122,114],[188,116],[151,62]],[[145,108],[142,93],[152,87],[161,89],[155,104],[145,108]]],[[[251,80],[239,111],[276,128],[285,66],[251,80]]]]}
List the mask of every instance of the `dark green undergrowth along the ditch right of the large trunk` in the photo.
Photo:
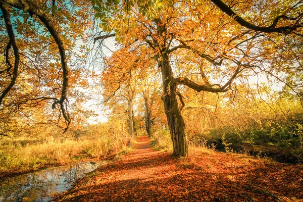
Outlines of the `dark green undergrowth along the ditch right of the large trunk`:
{"type": "Polygon", "coordinates": [[[207,139],[207,146],[225,152],[236,152],[283,163],[303,163],[303,117],[287,120],[261,119],[254,124],[217,127],[201,134],[190,134],[190,141],[207,139]]]}

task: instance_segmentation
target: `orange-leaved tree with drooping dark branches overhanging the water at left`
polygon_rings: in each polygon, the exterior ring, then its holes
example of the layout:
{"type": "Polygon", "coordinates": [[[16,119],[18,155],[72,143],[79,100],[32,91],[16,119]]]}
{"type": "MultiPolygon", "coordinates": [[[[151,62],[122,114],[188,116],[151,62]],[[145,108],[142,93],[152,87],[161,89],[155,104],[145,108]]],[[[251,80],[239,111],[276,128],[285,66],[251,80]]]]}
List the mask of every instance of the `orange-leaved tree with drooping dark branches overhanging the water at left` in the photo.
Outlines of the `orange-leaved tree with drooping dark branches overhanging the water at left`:
{"type": "MultiPolygon", "coordinates": [[[[0,1],[1,45],[0,118],[3,135],[19,117],[35,123],[37,109],[44,123],[67,130],[72,117],[68,105],[82,97],[75,88],[86,85],[80,65],[88,51],[76,41],[91,25],[90,4],[80,1],[0,1]],[[69,93],[69,98],[68,98],[69,93]],[[53,109],[53,110],[52,110],[53,109]]],[[[38,112],[37,112],[38,113],[38,112]]]]}

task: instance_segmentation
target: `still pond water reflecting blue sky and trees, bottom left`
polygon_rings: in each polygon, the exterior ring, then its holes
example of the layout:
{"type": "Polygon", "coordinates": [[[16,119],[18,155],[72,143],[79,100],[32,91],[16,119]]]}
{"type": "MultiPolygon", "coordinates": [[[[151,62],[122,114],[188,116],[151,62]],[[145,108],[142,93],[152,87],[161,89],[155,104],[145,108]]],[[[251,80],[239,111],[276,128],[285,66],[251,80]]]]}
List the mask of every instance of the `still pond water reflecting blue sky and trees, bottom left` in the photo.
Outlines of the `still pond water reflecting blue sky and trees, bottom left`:
{"type": "Polygon", "coordinates": [[[80,162],[68,166],[48,168],[0,181],[0,201],[49,201],[54,193],[66,191],[76,180],[105,162],[80,162]]]}

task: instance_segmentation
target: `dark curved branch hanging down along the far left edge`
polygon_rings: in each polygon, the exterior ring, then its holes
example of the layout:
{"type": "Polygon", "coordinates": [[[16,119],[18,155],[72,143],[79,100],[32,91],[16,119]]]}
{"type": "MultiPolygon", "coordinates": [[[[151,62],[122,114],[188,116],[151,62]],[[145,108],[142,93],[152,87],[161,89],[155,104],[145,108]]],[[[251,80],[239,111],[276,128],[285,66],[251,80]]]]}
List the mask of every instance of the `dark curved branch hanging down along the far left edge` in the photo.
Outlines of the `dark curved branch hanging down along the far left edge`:
{"type": "Polygon", "coordinates": [[[10,44],[13,46],[13,51],[14,51],[14,56],[15,56],[15,64],[14,64],[14,71],[13,71],[13,77],[11,79],[11,82],[9,86],[2,92],[0,96],[0,105],[3,102],[4,97],[7,95],[7,93],[12,89],[12,87],[15,85],[17,77],[18,77],[18,67],[19,67],[19,61],[20,61],[20,56],[18,53],[18,46],[16,44],[16,39],[15,39],[15,34],[13,31],[13,26],[12,22],[10,20],[10,12],[7,10],[7,8],[4,6],[2,2],[0,2],[0,8],[3,13],[4,21],[7,27],[7,32],[10,37],[10,42],[7,45],[7,56],[6,56],[6,62],[9,65],[8,69],[11,69],[12,65],[8,59],[8,49],[10,47],[10,44]]]}

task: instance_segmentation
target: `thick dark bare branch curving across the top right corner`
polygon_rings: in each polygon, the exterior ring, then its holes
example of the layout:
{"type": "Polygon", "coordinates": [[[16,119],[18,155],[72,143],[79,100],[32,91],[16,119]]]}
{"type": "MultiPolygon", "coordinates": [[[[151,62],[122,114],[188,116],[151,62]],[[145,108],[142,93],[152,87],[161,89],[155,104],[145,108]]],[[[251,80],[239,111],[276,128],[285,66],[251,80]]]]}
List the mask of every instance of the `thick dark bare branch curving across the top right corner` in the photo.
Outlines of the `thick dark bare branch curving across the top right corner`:
{"type": "Polygon", "coordinates": [[[243,18],[241,18],[240,16],[238,16],[235,12],[233,12],[226,4],[224,4],[221,0],[211,0],[221,11],[223,11],[224,13],[226,13],[228,16],[230,16],[231,18],[233,18],[236,22],[238,22],[240,25],[251,29],[251,30],[255,30],[255,31],[261,31],[261,32],[266,32],[266,33],[272,33],[272,32],[277,32],[277,33],[290,33],[294,30],[296,30],[299,27],[303,27],[302,24],[294,24],[292,26],[283,26],[283,27],[276,27],[277,23],[279,22],[280,19],[283,20],[297,20],[300,19],[302,17],[303,14],[299,14],[297,17],[292,18],[292,17],[288,17],[285,15],[280,15],[278,17],[276,17],[273,21],[273,23],[270,26],[267,27],[262,27],[262,26],[257,26],[254,24],[251,24],[247,21],[245,21],[243,18]]]}

